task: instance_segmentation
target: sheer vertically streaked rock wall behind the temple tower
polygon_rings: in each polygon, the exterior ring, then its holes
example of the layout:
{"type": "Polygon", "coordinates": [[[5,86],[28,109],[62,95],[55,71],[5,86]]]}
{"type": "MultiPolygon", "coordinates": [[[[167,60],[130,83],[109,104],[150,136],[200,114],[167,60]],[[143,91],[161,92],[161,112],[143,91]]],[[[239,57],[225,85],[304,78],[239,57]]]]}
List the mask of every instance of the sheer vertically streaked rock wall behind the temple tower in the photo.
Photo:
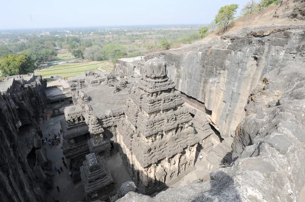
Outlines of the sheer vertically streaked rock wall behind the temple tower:
{"type": "MultiPolygon", "coordinates": [[[[222,137],[234,136],[245,117],[243,108],[261,77],[285,61],[302,60],[304,27],[243,28],[206,42],[145,57],[165,61],[175,88],[205,104],[222,137]]],[[[141,75],[143,62],[129,65],[119,60],[114,71],[141,75]]]]}

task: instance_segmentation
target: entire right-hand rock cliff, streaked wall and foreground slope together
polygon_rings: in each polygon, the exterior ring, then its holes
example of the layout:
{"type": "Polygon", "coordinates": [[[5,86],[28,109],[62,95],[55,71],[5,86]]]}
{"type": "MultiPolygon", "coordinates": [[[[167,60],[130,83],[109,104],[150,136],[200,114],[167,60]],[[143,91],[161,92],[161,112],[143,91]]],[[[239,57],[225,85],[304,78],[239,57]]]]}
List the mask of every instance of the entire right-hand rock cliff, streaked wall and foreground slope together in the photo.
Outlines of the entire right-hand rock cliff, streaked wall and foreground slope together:
{"type": "MultiPolygon", "coordinates": [[[[285,18],[301,20],[305,2],[286,3],[275,16],[286,9],[285,18]]],[[[162,58],[176,89],[204,103],[223,138],[234,137],[234,161],[205,182],[119,201],[297,201],[305,183],[304,56],[301,25],[242,28],[146,56],[162,58]]],[[[114,71],[137,76],[142,62],[118,60],[114,71]]]]}

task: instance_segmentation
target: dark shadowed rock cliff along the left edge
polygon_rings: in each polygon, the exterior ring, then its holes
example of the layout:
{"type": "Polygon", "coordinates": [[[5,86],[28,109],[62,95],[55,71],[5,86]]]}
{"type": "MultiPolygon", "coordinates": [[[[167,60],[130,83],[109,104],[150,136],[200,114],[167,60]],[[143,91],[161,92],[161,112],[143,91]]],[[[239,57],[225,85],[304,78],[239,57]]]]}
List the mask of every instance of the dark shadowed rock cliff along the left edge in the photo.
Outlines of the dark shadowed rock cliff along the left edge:
{"type": "Polygon", "coordinates": [[[9,83],[0,93],[0,200],[45,201],[33,167],[41,147],[46,83],[41,76],[9,83]]]}

